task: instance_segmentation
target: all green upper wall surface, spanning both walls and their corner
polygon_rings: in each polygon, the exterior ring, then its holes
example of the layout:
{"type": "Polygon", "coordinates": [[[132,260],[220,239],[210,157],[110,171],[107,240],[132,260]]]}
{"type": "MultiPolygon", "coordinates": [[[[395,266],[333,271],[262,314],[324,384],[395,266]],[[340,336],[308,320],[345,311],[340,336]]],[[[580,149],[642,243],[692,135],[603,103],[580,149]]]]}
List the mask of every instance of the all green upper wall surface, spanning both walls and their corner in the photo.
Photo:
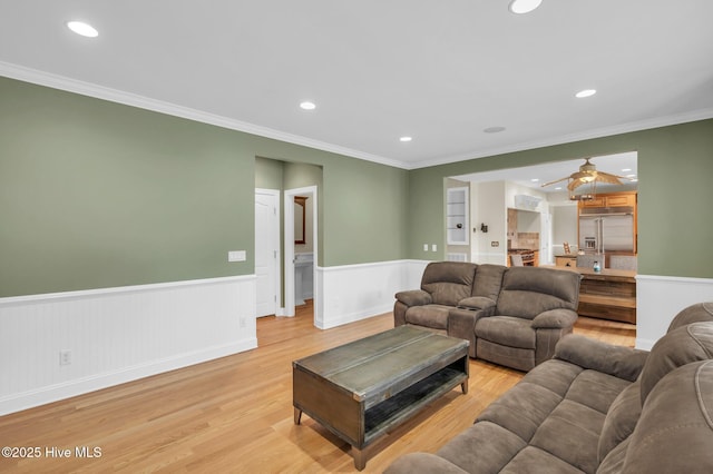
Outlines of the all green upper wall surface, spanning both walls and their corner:
{"type": "Polygon", "coordinates": [[[713,277],[713,120],[407,171],[8,78],[0,105],[0,297],[253,274],[256,157],[321,169],[330,267],[440,258],[446,177],[636,150],[639,273],[713,277]]]}

